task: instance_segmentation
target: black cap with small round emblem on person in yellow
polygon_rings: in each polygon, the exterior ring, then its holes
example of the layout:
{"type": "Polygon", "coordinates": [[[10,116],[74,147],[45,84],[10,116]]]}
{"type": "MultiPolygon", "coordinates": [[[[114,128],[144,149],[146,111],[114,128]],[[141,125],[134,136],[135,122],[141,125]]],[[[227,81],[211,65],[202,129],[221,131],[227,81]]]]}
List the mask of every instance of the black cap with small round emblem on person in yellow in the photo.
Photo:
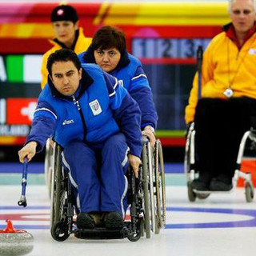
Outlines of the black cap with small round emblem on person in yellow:
{"type": "Polygon", "coordinates": [[[73,6],[68,6],[68,5],[57,6],[51,12],[50,21],[51,22],[70,21],[75,23],[78,21],[78,13],[73,6]]]}

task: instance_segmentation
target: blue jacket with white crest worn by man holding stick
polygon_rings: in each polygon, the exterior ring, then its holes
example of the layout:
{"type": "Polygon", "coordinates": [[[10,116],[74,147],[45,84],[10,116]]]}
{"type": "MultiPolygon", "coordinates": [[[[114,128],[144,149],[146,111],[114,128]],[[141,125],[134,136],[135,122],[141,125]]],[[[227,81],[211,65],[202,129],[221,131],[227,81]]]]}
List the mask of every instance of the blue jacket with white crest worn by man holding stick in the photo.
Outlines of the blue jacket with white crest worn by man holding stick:
{"type": "Polygon", "coordinates": [[[140,157],[142,135],[138,104],[119,86],[116,78],[97,65],[83,64],[82,69],[78,90],[70,97],[60,94],[48,79],[39,95],[26,143],[38,142],[38,152],[52,136],[63,147],[72,140],[101,146],[121,130],[130,154],[140,157]]]}

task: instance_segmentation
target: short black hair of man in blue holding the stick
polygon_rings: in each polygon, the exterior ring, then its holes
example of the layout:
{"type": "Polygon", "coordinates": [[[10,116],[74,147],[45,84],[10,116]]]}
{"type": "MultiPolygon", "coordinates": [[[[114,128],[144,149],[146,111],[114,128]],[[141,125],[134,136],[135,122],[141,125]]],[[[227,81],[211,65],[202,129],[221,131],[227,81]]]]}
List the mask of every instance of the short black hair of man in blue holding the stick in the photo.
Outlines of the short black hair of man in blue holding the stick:
{"type": "Polygon", "coordinates": [[[53,54],[50,54],[48,60],[47,60],[47,70],[48,73],[52,74],[51,67],[53,66],[54,62],[73,62],[74,66],[80,70],[81,68],[81,62],[78,58],[78,55],[74,53],[73,50],[70,49],[61,49],[56,50],[53,54]]]}

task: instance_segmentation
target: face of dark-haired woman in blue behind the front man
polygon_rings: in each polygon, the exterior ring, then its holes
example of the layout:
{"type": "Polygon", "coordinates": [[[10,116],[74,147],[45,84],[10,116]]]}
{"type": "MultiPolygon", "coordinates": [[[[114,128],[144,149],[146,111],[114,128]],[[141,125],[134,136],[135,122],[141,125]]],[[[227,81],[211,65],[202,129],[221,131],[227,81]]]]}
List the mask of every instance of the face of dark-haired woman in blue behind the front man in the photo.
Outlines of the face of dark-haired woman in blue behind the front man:
{"type": "Polygon", "coordinates": [[[110,72],[118,66],[121,54],[120,51],[113,47],[105,50],[94,50],[94,58],[98,66],[106,72],[110,72]]]}

